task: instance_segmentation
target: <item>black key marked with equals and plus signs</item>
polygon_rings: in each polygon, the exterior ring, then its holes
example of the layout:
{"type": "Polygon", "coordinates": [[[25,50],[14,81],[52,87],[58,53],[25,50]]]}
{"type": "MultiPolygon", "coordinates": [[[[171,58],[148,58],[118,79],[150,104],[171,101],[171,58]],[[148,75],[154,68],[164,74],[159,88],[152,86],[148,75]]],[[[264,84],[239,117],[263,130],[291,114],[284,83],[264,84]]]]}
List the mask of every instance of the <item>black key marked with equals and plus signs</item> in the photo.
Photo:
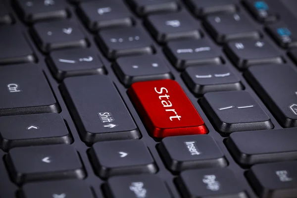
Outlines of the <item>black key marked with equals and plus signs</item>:
{"type": "Polygon", "coordinates": [[[280,53],[264,40],[230,42],[225,51],[239,69],[256,64],[283,63],[280,53]]]}

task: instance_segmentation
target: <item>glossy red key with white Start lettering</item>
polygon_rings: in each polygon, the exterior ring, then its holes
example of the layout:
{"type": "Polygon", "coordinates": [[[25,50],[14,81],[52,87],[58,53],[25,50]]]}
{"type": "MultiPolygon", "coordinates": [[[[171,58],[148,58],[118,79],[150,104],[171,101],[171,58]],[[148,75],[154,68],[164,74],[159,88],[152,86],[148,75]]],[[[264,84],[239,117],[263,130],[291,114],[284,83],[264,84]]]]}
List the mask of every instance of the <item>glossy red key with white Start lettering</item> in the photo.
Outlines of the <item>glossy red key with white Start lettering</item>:
{"type": "Polygon", "coordinates": [[[128,94],[155,138],[207,133],[196,108],[174,80],[134,83],[128,94]]]}

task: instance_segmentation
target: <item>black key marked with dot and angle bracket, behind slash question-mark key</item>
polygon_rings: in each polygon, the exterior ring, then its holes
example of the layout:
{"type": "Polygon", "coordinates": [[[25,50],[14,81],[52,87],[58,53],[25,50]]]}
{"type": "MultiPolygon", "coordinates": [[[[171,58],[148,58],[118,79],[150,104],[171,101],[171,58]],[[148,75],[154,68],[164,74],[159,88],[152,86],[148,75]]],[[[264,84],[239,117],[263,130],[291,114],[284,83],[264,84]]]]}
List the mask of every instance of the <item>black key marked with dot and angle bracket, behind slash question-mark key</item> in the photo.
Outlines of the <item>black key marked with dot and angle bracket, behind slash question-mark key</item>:
{"type": "Polygon", "coordinates": [[[88,42],[80,29],[70,21],[38,23],[31,31],[38,47],[45,53],[56,49],[86,48],[88,42]]]}

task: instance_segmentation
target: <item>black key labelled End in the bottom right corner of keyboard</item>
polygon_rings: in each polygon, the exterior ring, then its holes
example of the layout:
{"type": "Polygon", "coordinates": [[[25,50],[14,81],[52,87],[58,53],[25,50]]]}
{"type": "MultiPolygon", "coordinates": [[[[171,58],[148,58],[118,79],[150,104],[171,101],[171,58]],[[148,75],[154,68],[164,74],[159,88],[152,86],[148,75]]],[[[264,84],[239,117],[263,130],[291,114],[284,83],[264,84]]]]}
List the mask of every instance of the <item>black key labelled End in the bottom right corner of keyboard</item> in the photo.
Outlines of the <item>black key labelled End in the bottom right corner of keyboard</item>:
{"type": "Polygon", "coordinates": [[[294,198],[297,195],[297,161],[258,164],[247,177],[261,198],[294,198]]]}

